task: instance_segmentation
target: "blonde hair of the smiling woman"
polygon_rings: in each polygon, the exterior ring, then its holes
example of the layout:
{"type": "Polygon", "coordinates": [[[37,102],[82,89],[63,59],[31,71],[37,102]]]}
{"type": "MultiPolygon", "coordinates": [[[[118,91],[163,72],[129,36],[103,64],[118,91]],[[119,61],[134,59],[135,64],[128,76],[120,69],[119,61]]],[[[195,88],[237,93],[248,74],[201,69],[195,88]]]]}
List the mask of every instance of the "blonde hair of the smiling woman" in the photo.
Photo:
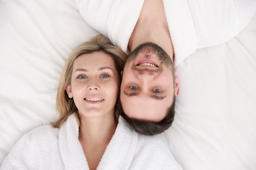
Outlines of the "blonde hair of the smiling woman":
{"type": "MultiPolygon", "coordinates": [[[[66,61],[66,65],[64,66],[63,73],[60,77],[60,83],[58,86],[58,93],[56,97],[56,109],[60,114],[60,118],[53,122],[51,125],[54,127],[60,127],[66,120],[68,116],[75,112],[77,116],[77,120],[79,120],[79,114],[77,112],[77,107],[75,106],[74,99],[68,97],[68,93],[66,92],[66,87],[71,83],[71,75],[72,75],[72,67],[75,59],[77,59],[82,54],[91,54],[93,52],[104,52],[109,54],[114,60],[117,73],[119,73],[119,82],[121,82],[121,71],[123,69],[123,65],[125,60],[127,59],[127,54],[123,52],[120,48],[117,48],[110,42],[110,40],[104,35],[97,35],[91,41],[84,42],[80,44],[75,50],[70,54],[66,61]]],[[[115,118],[119,116],[119,110],[117,109],[117,105],[115,108],[115,118]]]]}

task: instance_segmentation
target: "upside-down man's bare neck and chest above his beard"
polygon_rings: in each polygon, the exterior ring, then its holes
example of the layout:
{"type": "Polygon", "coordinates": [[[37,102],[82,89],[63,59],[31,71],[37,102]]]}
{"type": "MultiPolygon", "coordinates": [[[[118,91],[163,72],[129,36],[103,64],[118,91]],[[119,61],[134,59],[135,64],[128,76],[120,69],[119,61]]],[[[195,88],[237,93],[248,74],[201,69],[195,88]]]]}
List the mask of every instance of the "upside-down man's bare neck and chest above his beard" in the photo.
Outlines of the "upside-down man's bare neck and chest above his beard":
{"type": "Polygon", "coordinates": [[[146,0],[139,20],[129,39],[129,48],[134,50],[143,42],[158,44],[173,60],[173,44],[163,8],[163,1],[146,0]]]}

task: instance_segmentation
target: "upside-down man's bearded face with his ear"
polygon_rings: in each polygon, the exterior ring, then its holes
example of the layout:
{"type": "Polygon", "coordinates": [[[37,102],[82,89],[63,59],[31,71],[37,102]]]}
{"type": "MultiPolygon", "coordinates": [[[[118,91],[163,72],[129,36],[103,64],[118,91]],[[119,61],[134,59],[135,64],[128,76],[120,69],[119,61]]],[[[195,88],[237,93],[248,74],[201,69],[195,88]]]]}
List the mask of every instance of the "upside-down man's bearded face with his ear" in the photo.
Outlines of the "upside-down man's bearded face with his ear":
{"type": "Polygon", "coordinates": [[[131,52],[120,91],[121,105],[129,118],[160,122],[178,92],[173,63],[159,46],[144,43],[131,52]]]}

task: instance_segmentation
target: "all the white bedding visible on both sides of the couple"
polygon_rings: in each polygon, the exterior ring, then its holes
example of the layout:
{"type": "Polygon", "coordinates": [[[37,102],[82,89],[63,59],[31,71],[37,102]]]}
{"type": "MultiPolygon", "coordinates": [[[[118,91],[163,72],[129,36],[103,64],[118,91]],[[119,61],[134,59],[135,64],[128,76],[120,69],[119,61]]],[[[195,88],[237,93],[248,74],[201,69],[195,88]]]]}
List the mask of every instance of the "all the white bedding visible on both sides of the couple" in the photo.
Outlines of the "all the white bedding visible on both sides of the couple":
{"type": "MultiPolygon", "coordinates": [[[[66,58],[96,34],[73,1],[0,0],[0,164],[24,133],[56,120],[66,58]]],[[[161,138],[184,169],[256,169],[255,44],[256,16],[177,67],[175,122],[161,138]]]]}

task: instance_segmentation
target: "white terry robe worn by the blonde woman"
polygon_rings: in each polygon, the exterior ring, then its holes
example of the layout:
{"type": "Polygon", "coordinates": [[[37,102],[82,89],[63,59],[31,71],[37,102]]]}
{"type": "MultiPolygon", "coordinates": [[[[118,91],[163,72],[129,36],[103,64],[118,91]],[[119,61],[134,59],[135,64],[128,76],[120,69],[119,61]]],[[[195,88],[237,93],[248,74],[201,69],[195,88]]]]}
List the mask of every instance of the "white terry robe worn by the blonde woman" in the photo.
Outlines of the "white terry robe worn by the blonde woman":
{"type": "MultiPolygon", "coordinates": [[[[15,144],[0,169],[89,169],[72,114],[60,127],[40,126],[15,144]]],[[[97,169],[182,169],[169,148],[155,136],[141,135],[123,118],[97,169]]]]}

